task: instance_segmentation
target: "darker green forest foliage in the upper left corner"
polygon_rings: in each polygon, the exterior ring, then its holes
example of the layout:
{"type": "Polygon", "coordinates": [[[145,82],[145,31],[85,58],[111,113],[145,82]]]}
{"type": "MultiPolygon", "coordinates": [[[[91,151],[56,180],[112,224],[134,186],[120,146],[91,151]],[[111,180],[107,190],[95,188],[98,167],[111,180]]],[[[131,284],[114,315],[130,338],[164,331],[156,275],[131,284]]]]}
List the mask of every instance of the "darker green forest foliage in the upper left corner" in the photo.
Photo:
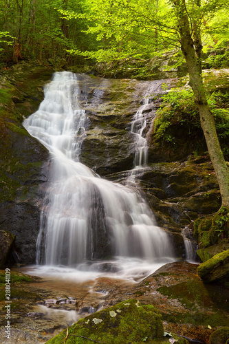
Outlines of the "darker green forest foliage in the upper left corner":
{"type": "MultiPolygon", "coordinates": [[[[66,49],[73,46],[84,50],[94,46],[94,39],[85,39],[81,31],[87,21],[77,23],[61,17],[58,9],[82,11],[84,2],[74,0],[0,0],[0,56],[1,61],[12,61],[12,43],[21,43],[24,59],[38,59],[41,63],[56,64],[65,57],[71,63],[66,49]]],[[[75,58],[76,60],[76,58],[75,58]]],[[[80,58],[77,59],[80,61],[80,58]]]]}

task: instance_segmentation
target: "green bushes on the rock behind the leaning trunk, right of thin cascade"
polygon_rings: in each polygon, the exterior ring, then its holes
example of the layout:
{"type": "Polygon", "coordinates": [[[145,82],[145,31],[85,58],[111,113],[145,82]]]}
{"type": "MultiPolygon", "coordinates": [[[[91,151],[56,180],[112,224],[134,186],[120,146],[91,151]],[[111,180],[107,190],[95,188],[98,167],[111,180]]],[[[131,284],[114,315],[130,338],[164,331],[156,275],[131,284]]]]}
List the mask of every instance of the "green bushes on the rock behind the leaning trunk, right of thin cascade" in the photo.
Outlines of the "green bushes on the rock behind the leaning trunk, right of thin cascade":
{"type": "MultiPolygon", "coordinates": [[[[205,75],[205,74],[204,74],[205,75]]],[[[187,78],[183,78],[184,81],[187,78]]],[[[226,160],[229,159],[229,94],[225,75],[207,76],[206,94],[210,111],[215,118],[217,136],[226,160]]],[[[156,147],[178,149],[181,144],[192,145],[193,153],[204,153],[206,145],[199,122],[199,112],[193,91],[188,86],[176,87],[162,96],[162,107],[157,111],[153,139],[156,147]]]]}

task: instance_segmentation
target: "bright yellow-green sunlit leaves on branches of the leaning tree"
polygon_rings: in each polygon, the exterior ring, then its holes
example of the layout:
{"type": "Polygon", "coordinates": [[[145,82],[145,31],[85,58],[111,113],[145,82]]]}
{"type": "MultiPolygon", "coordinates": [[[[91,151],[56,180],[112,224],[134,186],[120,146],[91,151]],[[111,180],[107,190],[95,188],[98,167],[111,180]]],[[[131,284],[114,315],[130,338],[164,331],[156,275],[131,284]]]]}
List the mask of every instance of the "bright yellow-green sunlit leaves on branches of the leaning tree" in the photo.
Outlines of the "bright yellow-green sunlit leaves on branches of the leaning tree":
{"type": "MultiPolygon", "coordinates": [[[[179,48],[179,19],[174,1],[165,0],[85,0],[84,12],[62,10],[67,20],[83,19],[88,22],[86,34],[96,36],[95,50],[82,51],[76,48],[71,54],[96,58],[97,61],[120,60],[122,58],[149,58],[155,54],[179,48]],[[178,21],[178,23],[177,23],[178,21]]],[[[191,30],[201,29],[204,44],[225,37],[228,18],[220,14],[226,7],[225,0],[186,1],[186,10],[191,30]],[[215,17],[220,18],[215,21],[215,17]],[[220,25],[219,25],[220,22],[220,25]]],[[[194,34],[194,33],[193,33],[194,34]]]]}

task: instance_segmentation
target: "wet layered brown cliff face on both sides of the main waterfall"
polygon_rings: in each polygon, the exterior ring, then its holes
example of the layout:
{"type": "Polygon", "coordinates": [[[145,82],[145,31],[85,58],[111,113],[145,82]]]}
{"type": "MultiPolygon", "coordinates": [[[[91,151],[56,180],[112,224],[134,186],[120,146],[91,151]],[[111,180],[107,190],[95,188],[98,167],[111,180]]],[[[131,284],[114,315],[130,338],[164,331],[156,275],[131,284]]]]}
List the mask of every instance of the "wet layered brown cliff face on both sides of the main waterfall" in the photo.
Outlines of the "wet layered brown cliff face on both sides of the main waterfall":
{"type": "MultiPolygon", "coordinates": [[[[21,263],[32,264],[43,197],[49,184],[50,155],[21,123],[38,109],[43,100],[43,85],[52,78],[53,71],[24,63],[16,68],[0,74],[0,229],[9,230],[16,237],[15,250],[21,263]]],[[[144,96],[149,94],[149,105],[144,109],[145,135],[150,131],[165,81],[156,83],[152,89],[151,81],[83,74],[78,78],[80,104],[87,114],[81,162],[102,178],[128,184],[136,138],[130,131],[131,120],[144,96]]],[[[166,80],[168,84],[172,82],[166,80]]],[[[150,151],[148,167],[136,175],[134,187],[141,186],[140,192],[153,209],[157,223],[172,233],[177,255],[181,256],[184,255],[181,228],[220,206],[215,174],[207,156],[167,162],[166,154],[159,155],[151,147],[150,151]]]]}

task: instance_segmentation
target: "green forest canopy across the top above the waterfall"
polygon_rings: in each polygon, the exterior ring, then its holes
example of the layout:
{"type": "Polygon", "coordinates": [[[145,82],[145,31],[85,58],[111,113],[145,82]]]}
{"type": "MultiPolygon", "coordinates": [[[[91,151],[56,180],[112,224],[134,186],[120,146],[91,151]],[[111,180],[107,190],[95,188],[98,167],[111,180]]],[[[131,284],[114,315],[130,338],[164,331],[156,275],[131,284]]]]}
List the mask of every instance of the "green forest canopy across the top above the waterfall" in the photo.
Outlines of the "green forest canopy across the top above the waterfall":
{"type": "MultiPolygon", "coordinates": [[[[190,30],[201,30],[204,52],[228,47],[226,6],[226,0],[186,1],[190,30]]],[[[0,23],[2,64],[15,43],[22,58],[52,65],[60,58],[70,64],[148,59],[180,49],[170,0],[1,0],[0,23]]]]}

